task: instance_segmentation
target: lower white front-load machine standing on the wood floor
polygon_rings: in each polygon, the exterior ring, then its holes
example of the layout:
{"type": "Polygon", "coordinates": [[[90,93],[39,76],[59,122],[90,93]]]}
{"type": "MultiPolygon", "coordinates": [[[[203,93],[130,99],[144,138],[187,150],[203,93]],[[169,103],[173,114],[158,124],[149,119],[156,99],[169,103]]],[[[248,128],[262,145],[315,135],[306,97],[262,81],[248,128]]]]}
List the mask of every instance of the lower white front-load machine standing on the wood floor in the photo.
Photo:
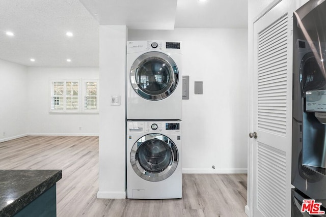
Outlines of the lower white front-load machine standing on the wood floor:
{"type": "Polygon", "coordinates": [[[127,121],[127,197],[182,197],[181,121],[127,121]]]}

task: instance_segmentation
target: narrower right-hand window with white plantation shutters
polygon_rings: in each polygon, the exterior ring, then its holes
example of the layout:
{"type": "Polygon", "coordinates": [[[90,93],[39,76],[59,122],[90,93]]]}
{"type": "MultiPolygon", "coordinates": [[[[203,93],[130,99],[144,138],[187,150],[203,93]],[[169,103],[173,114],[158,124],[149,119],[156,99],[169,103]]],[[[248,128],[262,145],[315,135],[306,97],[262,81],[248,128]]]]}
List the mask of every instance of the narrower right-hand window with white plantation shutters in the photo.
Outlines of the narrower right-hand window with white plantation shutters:
{"type": "Polygon", "coordinates": [[[84,80],[84,112],[98,112],[98,80],[84,80]]]}

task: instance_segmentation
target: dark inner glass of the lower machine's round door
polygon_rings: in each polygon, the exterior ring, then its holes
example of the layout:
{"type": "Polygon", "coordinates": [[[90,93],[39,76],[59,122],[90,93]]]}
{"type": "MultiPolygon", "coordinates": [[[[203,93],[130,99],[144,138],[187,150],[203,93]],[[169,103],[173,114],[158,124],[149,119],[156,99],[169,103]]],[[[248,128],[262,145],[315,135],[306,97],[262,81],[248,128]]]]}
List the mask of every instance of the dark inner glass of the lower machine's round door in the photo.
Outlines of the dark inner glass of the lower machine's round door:
{"type": "Polygon", "coordinates": [[[152,139],[144,142],[138,149],[141,167],[151,173],[165,170],[172,162],[172,152],[164,141],[152,139]]]}

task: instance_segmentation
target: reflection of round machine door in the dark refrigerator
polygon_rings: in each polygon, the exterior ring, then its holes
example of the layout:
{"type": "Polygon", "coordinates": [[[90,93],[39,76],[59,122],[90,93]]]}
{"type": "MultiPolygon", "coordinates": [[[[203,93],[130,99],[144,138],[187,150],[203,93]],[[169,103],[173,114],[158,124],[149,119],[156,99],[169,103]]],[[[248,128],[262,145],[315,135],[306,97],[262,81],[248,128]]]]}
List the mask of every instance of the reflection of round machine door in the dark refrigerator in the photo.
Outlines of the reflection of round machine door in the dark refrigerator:
{"type": "Polygon", "coordinates": [[[326,84],[324,60],[319,55],[309,52],[301,60],[300,82],[303,92],[322,89],[326,84]]]}

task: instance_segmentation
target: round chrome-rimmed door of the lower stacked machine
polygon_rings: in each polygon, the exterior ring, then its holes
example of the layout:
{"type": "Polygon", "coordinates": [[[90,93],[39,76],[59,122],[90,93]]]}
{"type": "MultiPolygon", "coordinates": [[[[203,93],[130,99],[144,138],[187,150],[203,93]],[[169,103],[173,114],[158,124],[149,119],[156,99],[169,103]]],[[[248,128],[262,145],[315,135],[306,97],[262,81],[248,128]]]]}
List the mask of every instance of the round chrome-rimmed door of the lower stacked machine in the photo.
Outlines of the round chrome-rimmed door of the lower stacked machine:
{"type": "Polygon", "coordinates": [[[161,134],[148,134],[132,146],[130,163],[141,178],[148,181],[167,179],[177,168],[179,154],[173,141],[161,134]]]}

